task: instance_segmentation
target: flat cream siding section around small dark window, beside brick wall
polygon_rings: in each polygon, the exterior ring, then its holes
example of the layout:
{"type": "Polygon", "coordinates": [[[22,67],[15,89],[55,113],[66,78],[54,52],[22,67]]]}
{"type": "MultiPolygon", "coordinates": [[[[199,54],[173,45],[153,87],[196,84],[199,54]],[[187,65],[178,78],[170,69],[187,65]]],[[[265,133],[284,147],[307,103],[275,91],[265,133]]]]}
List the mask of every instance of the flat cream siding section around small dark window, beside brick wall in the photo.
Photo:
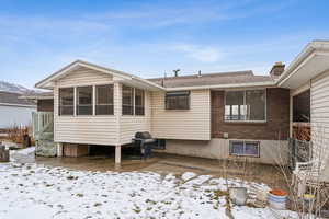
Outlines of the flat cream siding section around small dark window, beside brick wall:
{"type": "Polygon", "coordinates": [[[191,108],[166,110],[164,92],[151,93],[151,132],[167,139],[211,139],[211,92],[191,91],[191,108]]]}

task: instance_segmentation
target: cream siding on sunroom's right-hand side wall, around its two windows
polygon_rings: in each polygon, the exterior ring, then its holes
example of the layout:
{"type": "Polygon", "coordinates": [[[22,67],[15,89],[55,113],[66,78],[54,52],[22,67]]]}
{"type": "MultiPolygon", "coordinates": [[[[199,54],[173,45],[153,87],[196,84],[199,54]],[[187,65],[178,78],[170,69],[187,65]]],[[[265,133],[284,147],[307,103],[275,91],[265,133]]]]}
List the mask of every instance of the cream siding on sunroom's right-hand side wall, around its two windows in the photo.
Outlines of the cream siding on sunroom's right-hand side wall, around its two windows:
{"type": "Polygon", "coordinates": [[[136,131],[150,131],[150,93],[145,92],[145,115],[121,117],[121,143],[132,142],[136,131]]]}

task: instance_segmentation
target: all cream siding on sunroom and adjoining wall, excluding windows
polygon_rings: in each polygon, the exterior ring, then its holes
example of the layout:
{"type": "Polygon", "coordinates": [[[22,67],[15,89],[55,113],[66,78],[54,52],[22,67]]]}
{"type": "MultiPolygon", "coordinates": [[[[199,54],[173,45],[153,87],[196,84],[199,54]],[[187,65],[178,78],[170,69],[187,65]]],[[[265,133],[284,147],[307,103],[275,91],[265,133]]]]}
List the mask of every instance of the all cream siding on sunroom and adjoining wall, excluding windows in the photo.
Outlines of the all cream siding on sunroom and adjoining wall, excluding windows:
{"type": "Polygon", "coordinates": [[[166,111],[164,92],[146,92],[145,116],[122,116],[122,84],[114,83],[114,115],[58,116],[58,89],[113,83],[113,77],[80,67],[56,81],[54,138],[56,142],[125,145],[136,131],[168,139],[211,139],[211,92],[191,91],[189,111],[166,111]]]}

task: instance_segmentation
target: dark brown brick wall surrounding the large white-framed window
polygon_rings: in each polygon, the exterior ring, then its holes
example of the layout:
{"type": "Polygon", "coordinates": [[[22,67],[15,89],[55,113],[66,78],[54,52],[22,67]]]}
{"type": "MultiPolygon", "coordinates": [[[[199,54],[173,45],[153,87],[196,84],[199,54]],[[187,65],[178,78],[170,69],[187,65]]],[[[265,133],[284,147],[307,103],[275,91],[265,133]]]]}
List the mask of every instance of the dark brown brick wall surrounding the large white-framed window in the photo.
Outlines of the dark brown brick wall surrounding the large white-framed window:
{"type": "Polygon", "coordinates": [[[224,91],[212,91],[212,138],[285,140],[290,131],[290,91],[266,89],[266,123],[224,122],[224,91]]]}

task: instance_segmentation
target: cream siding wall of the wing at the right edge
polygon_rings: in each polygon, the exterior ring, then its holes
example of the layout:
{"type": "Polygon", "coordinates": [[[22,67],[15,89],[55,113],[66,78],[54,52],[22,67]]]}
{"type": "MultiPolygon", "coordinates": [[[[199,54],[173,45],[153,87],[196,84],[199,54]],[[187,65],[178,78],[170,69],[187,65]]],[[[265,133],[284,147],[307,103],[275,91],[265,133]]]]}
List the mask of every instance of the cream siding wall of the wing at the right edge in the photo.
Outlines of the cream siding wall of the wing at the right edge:
{"type": "Polygon", "coordinates": [[[329,155],[329,71],[311,80],[310,122],[314,158],[329,155]]]}

